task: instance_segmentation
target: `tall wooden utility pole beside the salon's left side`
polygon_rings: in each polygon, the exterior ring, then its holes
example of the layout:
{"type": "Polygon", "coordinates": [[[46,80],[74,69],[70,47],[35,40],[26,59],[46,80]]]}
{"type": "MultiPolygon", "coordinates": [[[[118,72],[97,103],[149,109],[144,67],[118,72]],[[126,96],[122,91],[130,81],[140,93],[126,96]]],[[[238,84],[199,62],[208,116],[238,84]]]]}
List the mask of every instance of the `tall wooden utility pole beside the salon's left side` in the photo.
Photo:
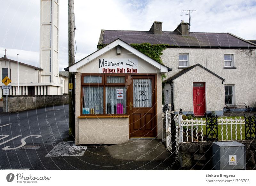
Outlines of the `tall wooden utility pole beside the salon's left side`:
{"type": "MultiPolygon", "coordinates": [[[[75,63],[75,20],[74,0],[68,0],[68,66],[75,63]]],[[[75,74],[68,73],[69,138],[75,139],[75,74]]]]}

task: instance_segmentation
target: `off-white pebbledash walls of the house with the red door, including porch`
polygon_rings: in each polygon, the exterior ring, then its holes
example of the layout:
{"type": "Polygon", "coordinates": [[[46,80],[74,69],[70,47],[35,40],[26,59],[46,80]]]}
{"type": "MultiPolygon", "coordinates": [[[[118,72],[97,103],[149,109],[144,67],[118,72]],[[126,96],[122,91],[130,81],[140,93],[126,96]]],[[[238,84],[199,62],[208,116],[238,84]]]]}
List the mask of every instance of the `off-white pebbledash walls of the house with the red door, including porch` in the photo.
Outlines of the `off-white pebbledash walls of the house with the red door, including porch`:
{"type": "MultiPolygon", "coordinates": [[[[245,103],[250,107],[255,106],[256,81],[255,81],[255,52],[250,49],[195,49],[195,48],[167,48],[161,58],[164,65],[172,67],[167,78],[172,77],[183,69],[179,67],[179,54],[189,54],[189,66],[199,63],[213,73],[224,78],[223,85],[217,77],[210,77],[210,73],[192,69],[174,80],[174,110],[193,113],[193,82],[206,82],[206,111],[223,112],[225,106],[224,85],[235,86],[235,103],[245,103]],[[233,54],[236,69],[224,69],[224,54],[233,54]],[[193,71],[193,72],[191,72],[193,71]],[[189,74],[189,75],[188,75],[189,74]],[[217,86],[218,85],[218,86],[217,86]],[[182,89],[182,90],[181,90],[182,89]],[[177,93],[178,91],[178,93],[177,93]],[[181,95],[183,97],[181,98],[181,95]],[[217,104],[217,105],[216,105],[217,104]]],[[[164,98],[167,100],[166,90],[171,90],[169,83],[164,88],[164,98]]]]}

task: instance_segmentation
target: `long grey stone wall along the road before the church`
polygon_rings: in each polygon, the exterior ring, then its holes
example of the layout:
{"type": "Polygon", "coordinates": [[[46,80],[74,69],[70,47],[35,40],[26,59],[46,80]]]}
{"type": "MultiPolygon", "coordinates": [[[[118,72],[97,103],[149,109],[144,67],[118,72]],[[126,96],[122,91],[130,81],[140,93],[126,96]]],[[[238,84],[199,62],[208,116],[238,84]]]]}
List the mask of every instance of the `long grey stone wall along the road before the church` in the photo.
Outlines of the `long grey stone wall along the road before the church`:
{"type": "MultiPolygon", "coordinates": [[[[4,96],[3,98],[3,112],[6,112],[6,96],[4,96]]],[[[64,94],[63,96],[8,96],[8,112],[25,111],[29,109],[66,104],[68,104],[68,94],[64,94]]]]}

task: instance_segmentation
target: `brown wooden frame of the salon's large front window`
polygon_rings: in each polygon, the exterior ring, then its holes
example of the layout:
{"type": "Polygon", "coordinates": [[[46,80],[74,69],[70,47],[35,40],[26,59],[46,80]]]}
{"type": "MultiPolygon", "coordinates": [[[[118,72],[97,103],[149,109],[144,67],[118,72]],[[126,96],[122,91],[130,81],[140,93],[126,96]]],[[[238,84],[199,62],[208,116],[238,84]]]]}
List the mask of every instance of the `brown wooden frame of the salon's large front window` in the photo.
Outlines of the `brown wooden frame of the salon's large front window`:
{"type": "MultiPolygon", "coordinates": [[[[128,114],[128,109],[126,109],[126,113],[124,114],[107,114],[106,108],[106,87],[124,87],[126,86],[126,80],[128,79],[128,75],[126,74],[81,74],[81,104],[80,104],[80,116],[122,116],[128,114]],[[101,76],[102,83],[84,83],[85,76],[101,76]],[[107,83],[107,77],[109,76],[122,76],[125,77],[124,83],[107,83]],[[83,114],[83,101],[84,101],[84,87],[103,87],[103,114],[83,114]]],[[[128,91],[125,92],[126,94],[126,108],[128,108],[128,91]]]]}

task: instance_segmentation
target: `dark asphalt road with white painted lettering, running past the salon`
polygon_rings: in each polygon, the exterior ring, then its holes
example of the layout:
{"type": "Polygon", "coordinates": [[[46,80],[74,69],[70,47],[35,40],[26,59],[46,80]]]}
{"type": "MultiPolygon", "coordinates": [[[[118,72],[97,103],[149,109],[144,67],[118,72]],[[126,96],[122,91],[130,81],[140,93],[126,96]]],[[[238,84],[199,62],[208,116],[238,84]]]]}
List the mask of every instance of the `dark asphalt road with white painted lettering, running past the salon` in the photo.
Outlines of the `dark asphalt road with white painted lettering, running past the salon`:
{"type": "Polygon", "coordinates": [[[68,141],[68,105],[19,113],[0,113],[0,169],[177,169],[176,165],[170,166],[171,158],[161,161],[114,159],[109,155],[105,145],[87,145],[83,156],[45,157],[55,144],[63,141],[68,141]],[[39,145],[40,148],[23,149],[31,145],[39,145]]]}

